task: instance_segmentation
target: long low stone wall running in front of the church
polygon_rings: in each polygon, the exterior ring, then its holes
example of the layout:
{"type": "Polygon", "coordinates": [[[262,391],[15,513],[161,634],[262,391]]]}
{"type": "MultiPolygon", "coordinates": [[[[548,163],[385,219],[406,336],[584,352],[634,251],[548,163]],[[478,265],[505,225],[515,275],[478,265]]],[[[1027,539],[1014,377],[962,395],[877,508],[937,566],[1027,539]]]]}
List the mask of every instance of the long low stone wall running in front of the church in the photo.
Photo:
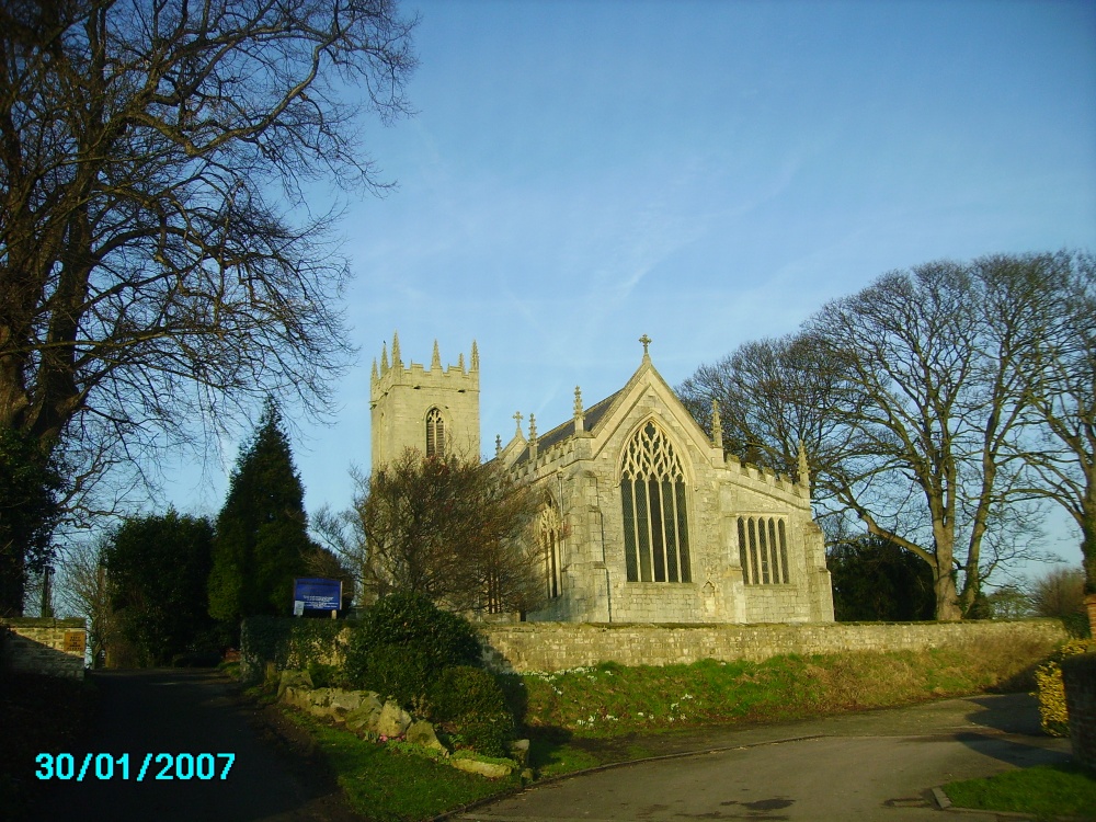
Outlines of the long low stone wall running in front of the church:
{"type": "Polygon", "coordinates": [[[621,665],[688,664],[705,659],[762,662],[781,654],[917,651],[1004,641],[1060,646],[1057,619],[971,623],[820,623],[798,625],[598,625],[521,623],[477,626],[484,659],[502,671],[564,671],[621,665]]]}

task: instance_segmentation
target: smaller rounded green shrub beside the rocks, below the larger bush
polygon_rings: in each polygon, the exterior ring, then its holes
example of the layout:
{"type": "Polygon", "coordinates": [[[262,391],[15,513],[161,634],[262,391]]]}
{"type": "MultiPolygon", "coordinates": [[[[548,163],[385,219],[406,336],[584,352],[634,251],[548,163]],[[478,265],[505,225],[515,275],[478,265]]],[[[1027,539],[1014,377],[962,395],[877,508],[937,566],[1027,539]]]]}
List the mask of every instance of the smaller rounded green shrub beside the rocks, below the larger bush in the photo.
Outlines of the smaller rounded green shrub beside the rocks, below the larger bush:
{"type": "Polygon", "coordinates": [[[457,747],[505,756],[514,718],[495,678],[469,665],[445,670],[430,692],[431,718],[449,731],[457,747]]]}

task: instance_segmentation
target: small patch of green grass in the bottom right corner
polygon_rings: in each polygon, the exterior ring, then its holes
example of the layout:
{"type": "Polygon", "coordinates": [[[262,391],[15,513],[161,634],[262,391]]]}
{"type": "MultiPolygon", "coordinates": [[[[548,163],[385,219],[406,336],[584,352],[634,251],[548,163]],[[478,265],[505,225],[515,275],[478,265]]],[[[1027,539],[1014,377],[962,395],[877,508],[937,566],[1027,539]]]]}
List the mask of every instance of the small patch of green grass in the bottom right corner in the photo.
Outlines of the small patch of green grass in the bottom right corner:
{"type": "Polygon", "coordinates": [[[957,808],[1096,820],[1096,778],[1076,766],[1040,765],[944,786],[957,808]]]}

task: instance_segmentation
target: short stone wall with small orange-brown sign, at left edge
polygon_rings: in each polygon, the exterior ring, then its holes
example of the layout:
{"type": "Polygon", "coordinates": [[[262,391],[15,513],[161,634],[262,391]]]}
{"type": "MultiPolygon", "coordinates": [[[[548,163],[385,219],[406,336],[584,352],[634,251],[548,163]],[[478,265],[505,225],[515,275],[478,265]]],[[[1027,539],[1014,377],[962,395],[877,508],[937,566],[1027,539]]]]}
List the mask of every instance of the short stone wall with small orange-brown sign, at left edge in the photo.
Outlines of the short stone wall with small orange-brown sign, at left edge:
{"type": "Polygon", "coordinates": [[[83,619],[0,619],[0,662],[9,671],[82,677],[87,641],[83,619]]]}

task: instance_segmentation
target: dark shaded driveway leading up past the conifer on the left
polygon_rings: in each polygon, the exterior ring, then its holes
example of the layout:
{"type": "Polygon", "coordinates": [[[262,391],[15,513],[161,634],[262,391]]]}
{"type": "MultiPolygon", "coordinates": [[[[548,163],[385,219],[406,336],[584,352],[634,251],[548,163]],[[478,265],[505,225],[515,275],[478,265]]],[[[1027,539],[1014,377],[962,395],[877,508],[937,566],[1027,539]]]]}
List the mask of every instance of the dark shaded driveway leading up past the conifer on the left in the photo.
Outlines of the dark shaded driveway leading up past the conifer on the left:
{"type": "MultiPolygon", "coordinates": [[[[103,705],[92,753],[129,754],[129,779],[56,781],[33,809],[42,822],[346,822],[356,820],[338,791],[309,778],[299,757],[278,755],[256,733],[255,708],[213,671],[111,671],[94,674],[103,705]],[[137,772],[146,753],[233,753],[226,779],[157,780],[137,772]]],[[[79,763],[88,749],[73,752],[79,763]]],[[[285,753],[285,752],[284,752],[285,753]]],[[[79,767],[79,765],[78,765],[79,767]]],[[[89,769],[93,774],[93,768],[89,769]]],[[[105,764],[104,764],[105,773],[105,764]]],[[[184,766],[184,774],[186,768],[184,766]]],[[[2,814],[0,814],[2,815],[2,814]]]]}

